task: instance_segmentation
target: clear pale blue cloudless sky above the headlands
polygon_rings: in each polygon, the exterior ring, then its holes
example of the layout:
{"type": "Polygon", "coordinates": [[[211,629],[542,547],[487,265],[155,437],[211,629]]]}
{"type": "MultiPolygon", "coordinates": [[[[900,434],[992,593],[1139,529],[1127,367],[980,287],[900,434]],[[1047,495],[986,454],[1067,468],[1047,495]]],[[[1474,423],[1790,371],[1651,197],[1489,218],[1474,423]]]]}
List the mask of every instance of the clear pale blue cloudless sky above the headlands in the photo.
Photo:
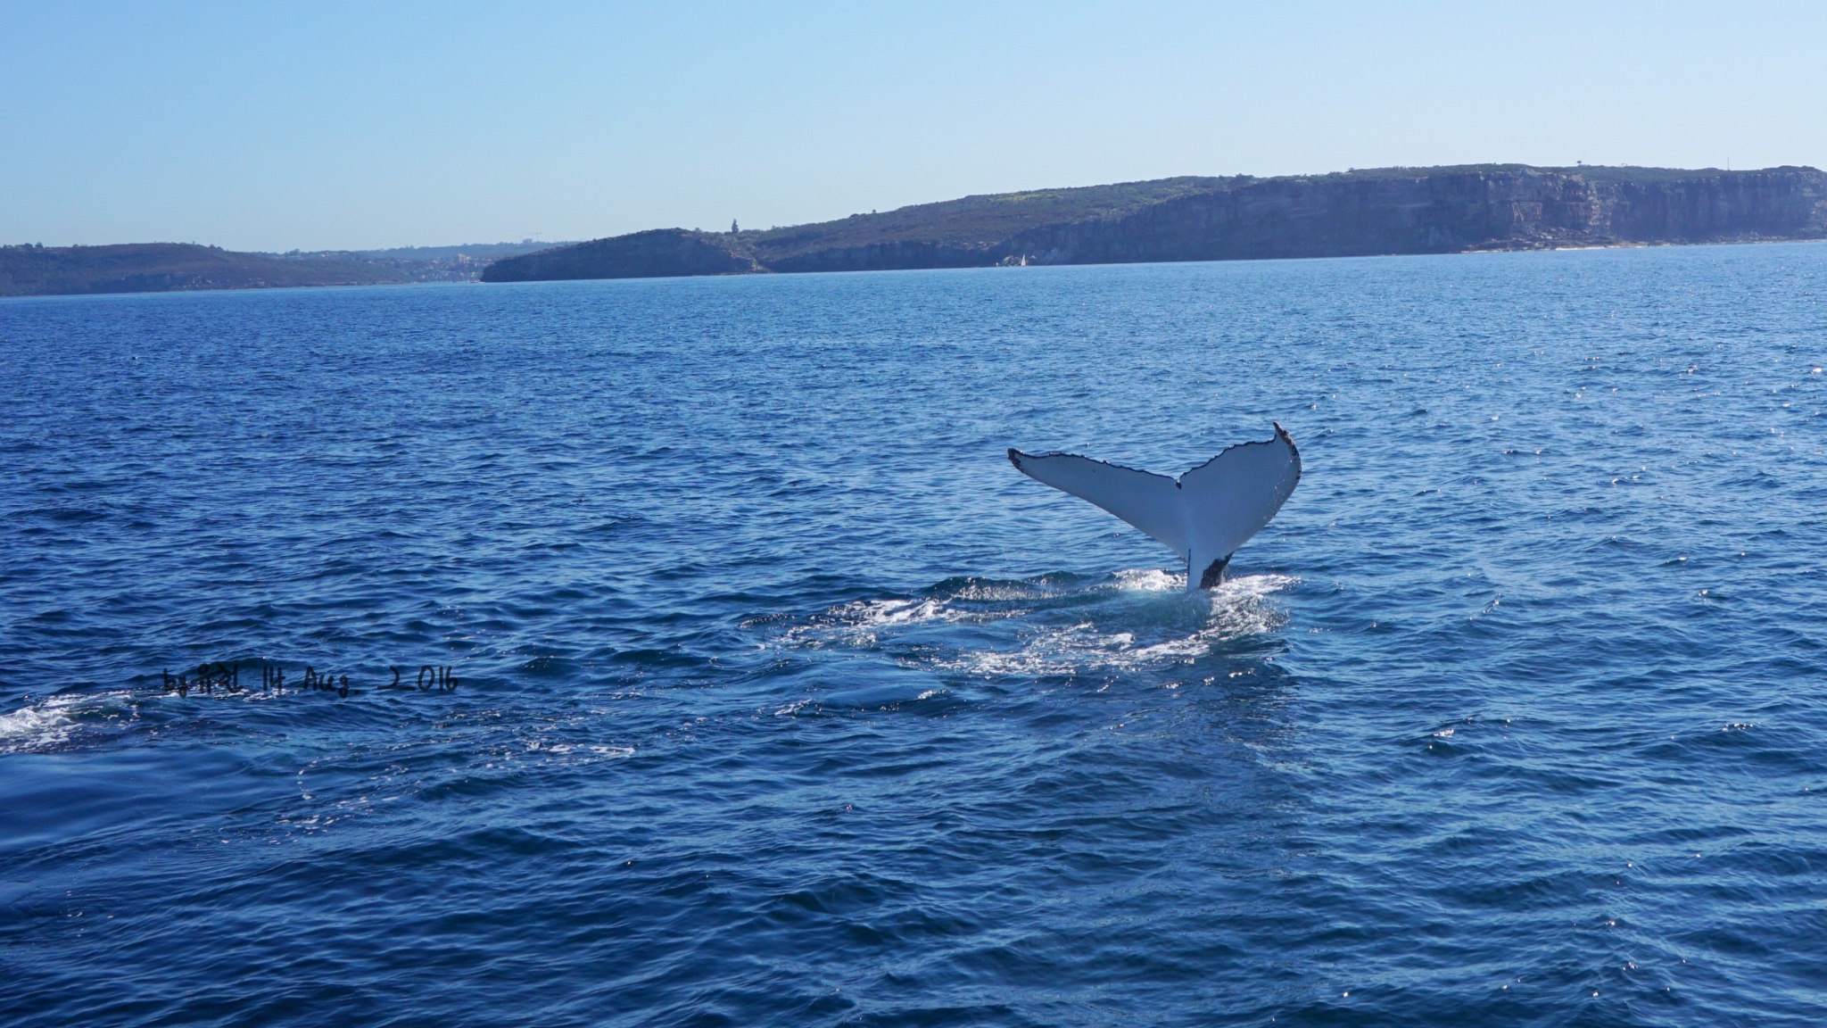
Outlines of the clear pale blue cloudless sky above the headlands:
{"type": "Polygon", "coordinates": [[[1524,161],[1827,166],[1827,4],[0,0],[0,241],[331,249],[1524,161]]]}

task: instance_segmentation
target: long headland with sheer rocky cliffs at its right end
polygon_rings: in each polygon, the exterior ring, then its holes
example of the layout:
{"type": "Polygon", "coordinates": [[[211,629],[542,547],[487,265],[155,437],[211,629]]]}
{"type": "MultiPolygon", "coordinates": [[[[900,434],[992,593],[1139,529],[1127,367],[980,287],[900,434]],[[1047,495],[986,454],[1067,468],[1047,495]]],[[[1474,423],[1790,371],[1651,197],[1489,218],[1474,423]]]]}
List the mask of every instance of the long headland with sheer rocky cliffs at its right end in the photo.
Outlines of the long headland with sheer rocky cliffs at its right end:
{"type": "Polygon", "coordinates": [[[1458,165],[966,196],[760,232],[654,229],[504,258],[482,282],[1820,238],[1816,168],[1458,165]]]}

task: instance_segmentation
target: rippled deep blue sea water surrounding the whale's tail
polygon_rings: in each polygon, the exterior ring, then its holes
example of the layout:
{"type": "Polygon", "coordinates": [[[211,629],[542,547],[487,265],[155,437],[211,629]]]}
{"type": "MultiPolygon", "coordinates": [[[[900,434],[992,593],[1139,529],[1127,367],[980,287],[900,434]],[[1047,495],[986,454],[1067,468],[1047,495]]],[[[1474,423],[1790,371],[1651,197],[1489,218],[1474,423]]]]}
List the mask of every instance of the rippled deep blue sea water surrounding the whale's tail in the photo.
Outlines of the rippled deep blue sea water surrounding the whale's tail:
{"type": "Polygon", "coordinates": [[[1827,1021],[1823,296],[1763,245],[4,302],[0,1021],[1827,1021]],[[1270,419],[1304,479],[1206,596],[1003,459],[1270,419]]]}

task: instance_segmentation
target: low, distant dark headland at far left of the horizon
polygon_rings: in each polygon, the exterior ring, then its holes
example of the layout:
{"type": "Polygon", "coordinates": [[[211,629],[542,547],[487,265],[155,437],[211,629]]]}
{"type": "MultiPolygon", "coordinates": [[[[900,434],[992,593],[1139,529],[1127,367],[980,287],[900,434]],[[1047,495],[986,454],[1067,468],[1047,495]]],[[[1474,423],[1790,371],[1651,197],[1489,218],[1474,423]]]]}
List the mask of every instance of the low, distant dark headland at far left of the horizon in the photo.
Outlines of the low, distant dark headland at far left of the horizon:
{"type": "Polygon", "coordinates": [[[0,247],[0,296],[172,293],[283,285],[473,282],[491,260],[552,243],[245,254],[195,243],[0,247]]]}

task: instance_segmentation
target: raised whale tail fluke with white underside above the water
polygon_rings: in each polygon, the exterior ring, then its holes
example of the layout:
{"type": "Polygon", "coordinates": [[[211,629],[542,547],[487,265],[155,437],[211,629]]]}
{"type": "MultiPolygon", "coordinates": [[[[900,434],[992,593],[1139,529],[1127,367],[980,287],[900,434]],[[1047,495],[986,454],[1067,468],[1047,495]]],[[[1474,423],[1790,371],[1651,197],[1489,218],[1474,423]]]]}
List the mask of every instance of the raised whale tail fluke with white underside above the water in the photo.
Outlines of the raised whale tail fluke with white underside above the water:
{"type": "Polygon", "coordinates": [[[1230,446],[1178,479],[1074,454],[1010,448],[1009,463],[1034,481],[1116,514],[1180,554],[1188,593],[1224,582],[1237,547],[1268,525],[1301,481],[1301,452],[1281,424],[1273,439],[1230,446]]]}

